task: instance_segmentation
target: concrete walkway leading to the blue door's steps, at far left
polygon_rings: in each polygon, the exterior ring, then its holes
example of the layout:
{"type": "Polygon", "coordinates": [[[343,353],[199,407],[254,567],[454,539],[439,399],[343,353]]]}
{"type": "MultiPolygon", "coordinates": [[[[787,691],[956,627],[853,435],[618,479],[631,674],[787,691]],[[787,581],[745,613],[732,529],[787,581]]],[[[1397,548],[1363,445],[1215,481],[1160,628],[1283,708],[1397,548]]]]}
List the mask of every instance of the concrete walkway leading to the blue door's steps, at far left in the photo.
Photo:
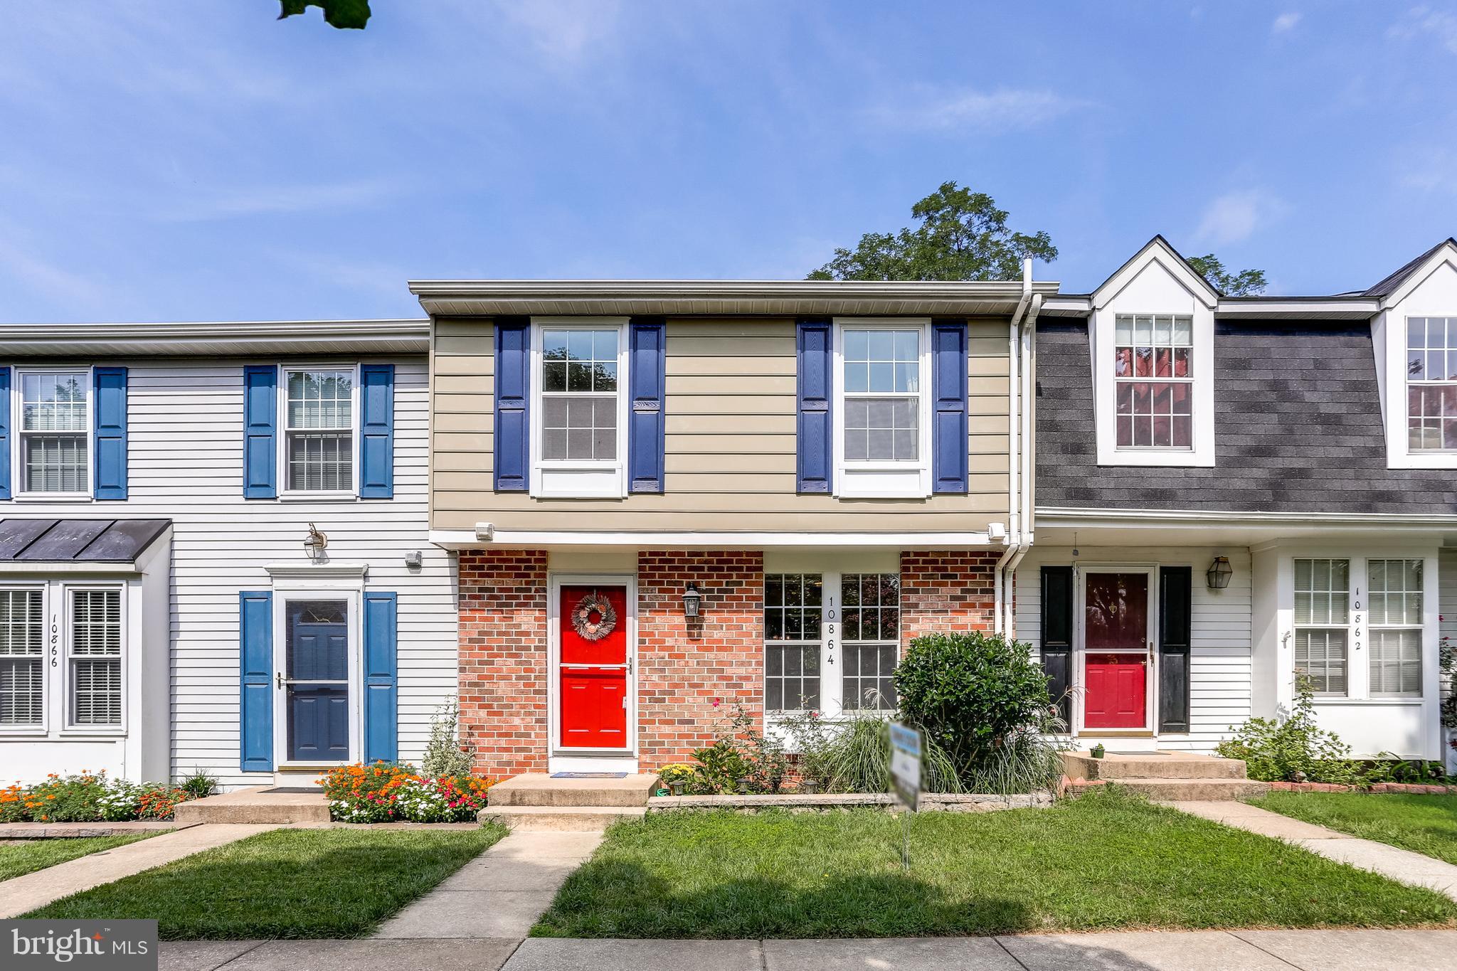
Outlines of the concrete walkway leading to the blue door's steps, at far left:
{"type": "Polygon", "coordinates": [[[274,825],[191,825],[149,840],[102,850],[0,882],[0,919],[17,917],[52,900],[210,850],[274,825]]]}

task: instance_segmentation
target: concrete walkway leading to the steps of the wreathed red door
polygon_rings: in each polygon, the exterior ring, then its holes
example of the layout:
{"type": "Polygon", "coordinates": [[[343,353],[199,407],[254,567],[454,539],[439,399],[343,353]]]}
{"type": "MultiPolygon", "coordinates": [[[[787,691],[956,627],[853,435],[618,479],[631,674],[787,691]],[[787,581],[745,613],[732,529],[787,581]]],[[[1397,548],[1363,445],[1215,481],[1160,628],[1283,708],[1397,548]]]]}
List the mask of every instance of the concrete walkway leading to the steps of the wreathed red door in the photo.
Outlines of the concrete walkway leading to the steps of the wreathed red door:
{"type": "Polygon", "coordinates": [[[374,936],[525,938],[561,882],[599,843],[600,830],[514,831],[390,917],[374,936]]]}

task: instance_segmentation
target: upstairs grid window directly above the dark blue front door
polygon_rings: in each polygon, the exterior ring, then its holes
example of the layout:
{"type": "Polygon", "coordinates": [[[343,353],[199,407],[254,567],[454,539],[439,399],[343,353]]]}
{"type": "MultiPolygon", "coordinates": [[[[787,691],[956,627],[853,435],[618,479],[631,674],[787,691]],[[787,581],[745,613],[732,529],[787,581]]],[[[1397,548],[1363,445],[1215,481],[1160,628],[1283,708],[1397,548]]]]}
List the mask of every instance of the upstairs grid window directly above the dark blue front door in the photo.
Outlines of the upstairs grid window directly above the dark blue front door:
{"type": "Polygon", "coordinates": [[[286,371],[288,489],[354,491],[354,370],[286,371]]]}

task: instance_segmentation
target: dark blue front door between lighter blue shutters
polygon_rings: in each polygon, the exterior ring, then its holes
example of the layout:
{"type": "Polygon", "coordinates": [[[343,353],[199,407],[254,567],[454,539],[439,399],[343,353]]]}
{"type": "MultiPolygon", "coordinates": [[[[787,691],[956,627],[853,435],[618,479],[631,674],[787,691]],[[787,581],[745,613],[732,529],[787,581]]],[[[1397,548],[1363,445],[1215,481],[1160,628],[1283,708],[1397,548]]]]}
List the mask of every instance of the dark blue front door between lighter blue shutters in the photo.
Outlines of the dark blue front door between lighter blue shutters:
{"type": "Polygon", "coordinates": [[[284,623],[288,761],[350,761],[348,604],[290,600],[284,623]]]}

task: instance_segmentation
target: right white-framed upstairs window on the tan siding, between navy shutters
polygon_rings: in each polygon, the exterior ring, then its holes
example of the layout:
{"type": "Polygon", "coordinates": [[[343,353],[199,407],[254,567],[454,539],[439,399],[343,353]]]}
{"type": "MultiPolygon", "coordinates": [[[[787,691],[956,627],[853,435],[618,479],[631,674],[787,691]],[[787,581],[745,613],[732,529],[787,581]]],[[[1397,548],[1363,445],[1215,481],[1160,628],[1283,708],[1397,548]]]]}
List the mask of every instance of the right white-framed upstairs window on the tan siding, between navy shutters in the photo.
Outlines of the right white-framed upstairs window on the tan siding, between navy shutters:
{"type": "Polygon", "coordinates": [[[930,338],[921,322],[841,322],[838,494],[930,495],[930,338]]]}

